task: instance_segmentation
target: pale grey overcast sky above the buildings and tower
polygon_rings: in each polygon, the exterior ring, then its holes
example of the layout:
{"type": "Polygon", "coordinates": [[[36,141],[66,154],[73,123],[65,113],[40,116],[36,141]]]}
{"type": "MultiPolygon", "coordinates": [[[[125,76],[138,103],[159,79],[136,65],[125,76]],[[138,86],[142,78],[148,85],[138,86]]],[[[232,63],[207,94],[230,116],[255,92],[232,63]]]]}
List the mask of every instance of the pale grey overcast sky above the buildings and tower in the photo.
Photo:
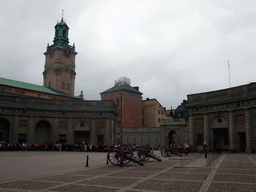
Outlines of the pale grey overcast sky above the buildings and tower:
{"type": "Polygon", "coordinates": [[[86,100],[120,77],[167,109],[256,81],[255,0],[1,0],[0,77],[43,85],[63,9],[86,100]]]}

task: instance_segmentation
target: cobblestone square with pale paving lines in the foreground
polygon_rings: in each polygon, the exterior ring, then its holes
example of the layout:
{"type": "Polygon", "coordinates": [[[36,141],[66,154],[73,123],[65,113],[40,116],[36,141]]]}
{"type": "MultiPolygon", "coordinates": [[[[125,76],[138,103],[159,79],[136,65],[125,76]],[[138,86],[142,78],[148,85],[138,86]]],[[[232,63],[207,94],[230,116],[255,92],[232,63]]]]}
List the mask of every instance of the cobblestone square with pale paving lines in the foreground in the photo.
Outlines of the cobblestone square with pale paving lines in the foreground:
{"type": "Polygon", "coordinates": [[[256,191],[256,154],[226,153],[208,166],[161,159],[118,167],[106,153],[1,152],[0,191],[256,191]]]}

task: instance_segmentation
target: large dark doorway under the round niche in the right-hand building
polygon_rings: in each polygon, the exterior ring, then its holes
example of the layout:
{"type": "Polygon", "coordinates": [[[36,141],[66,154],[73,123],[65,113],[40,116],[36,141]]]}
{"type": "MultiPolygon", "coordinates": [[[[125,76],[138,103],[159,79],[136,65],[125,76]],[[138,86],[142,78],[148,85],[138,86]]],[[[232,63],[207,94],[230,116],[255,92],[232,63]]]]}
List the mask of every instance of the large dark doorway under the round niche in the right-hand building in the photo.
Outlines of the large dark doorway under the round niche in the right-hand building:
{"type": "Polygon", "coordinates": [[[214,147],[218,146],[218,150],[226,151],[229,145],[228,128],[218,128],[213,130],[214,147]]]}

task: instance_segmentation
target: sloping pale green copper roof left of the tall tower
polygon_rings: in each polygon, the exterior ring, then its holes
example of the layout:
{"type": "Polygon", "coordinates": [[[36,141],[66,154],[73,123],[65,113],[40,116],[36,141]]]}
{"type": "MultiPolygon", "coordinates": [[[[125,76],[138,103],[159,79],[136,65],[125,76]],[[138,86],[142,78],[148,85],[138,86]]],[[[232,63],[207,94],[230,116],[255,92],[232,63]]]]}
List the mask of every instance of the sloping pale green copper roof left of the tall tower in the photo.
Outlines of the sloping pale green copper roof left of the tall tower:
{"type": "Polygon", "coordinates": [[[15,81],[15,80],[11,80],[11,79],[5,79],[5,78],[1,78],[1,77],[0,77],[0,85],[6,85],[6,86],[16,87],[16,88],[20,88],[20,89],[28,89],[28,90],[38,91],[38,92],[49,93],[49,94],[53,94],[53,95],[59,95],[55,91],[53,91],[47,87],[44,87],[44,86],[25,83],[25,82],[21,82],[21,81],[15,81]]]}

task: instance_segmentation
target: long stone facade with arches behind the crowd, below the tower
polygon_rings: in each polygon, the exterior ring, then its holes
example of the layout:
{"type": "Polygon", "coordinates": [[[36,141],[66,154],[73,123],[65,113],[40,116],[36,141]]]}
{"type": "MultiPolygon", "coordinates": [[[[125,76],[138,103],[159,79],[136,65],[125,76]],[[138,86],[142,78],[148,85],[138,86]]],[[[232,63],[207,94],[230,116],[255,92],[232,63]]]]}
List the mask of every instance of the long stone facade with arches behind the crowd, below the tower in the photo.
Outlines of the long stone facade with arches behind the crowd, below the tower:
{"type": "Polygon", "coordinates": [[[116,143],[117,113],[111,101],[45,100],[0,93],[1,140],[116,143]]]}

